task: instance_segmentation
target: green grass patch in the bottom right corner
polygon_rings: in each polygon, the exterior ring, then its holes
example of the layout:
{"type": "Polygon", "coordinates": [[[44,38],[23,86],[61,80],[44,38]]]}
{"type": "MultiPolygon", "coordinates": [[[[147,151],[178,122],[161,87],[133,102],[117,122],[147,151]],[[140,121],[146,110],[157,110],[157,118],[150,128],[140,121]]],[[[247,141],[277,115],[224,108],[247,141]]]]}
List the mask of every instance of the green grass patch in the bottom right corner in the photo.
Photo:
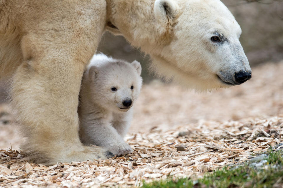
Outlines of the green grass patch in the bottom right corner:
{"type": "Polygon", "coordinates": [[[202,179],[193,181],[190,178],[173,179],[165,181],[154,181],[144,183],[142,188],[204,188],[204,187],[272,187],[274,184],[283,186],[283,151],[269,151],[266,157],[266,169],[256,169],[249,163],[239,166],[224,167],[212,173],[205,174],[202,179]]]}

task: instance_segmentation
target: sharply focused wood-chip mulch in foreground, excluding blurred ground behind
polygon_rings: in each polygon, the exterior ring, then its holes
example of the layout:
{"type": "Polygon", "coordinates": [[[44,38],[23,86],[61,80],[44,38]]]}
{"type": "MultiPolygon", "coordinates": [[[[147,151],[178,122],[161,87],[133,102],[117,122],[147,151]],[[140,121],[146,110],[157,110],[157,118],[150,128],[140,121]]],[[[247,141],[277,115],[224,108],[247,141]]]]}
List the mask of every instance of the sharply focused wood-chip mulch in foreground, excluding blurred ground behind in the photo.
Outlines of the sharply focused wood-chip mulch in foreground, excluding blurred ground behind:
{"type": "Polygon", "coordinates": [[[283,147],[283,116],[240,121],[202,121],[162,131],[129,134],[134,152],[108,160],[29,162],[17,150],[0,150],[0,187],[135,187],[142,181],[199,178],[205,172],[244,162],[270,147],[283,147]],[[190,127],[190,129],[188,129],[190,127]]]}

